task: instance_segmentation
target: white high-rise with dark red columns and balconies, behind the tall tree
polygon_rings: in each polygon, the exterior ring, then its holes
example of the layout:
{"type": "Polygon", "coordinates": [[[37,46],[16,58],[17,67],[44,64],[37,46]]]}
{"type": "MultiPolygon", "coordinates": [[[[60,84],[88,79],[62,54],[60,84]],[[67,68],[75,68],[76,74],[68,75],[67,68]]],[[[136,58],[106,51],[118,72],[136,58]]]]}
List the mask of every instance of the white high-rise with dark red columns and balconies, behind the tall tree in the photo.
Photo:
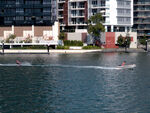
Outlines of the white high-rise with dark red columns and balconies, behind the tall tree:
{"type": "Polygon", "coordinates": [[[106,32],[127,32],[133,25],[133,0],[57,0],[62,30],[86,29],[87,20],[101,13],[106,32]]]}

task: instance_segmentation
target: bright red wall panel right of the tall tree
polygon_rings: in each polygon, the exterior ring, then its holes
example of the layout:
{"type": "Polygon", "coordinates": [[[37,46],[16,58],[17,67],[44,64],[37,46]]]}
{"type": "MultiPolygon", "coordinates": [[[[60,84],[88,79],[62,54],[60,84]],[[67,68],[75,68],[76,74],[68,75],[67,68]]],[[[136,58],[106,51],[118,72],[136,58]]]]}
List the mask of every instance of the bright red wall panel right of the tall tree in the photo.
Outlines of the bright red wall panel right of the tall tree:
{"type": "Polygon", "coordinates": [[[118,46],[115,45],[115,32],[106,32],[105,37],[105,48],[118,48],[118,46]]]}

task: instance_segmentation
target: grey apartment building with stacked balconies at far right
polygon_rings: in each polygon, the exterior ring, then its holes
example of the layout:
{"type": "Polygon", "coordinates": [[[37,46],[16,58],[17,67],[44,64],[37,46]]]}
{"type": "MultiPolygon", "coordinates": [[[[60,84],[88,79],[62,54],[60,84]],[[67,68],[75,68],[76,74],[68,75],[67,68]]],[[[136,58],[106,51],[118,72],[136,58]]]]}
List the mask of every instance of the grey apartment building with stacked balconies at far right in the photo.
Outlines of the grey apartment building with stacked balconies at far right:
{"type": "Polygon", "coordinates": [[[150,38],[150,1],[134,0],[134,28],[138,38],[150,38]]]}

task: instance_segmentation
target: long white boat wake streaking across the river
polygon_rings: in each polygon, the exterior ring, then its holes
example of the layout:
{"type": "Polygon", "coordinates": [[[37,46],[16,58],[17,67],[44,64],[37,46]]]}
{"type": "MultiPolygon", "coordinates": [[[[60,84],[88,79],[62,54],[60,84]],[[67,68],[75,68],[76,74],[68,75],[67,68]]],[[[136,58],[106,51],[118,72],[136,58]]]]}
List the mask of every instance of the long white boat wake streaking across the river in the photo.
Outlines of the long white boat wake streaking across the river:
{"type": "Polygon", "coordinates": [[[28,62],[24,62],[20,65],[18,64],[0,64],[0,67],[62,67],[62,68],[80,68],[80,69],[108,69],[108,70],[120,70],[120,69],[132,69],[135,68],[136,65],[125,65],[125,66],[116,66],[116,67],[106,67],[106,66],[76,66],[76,65],[62,65],[62,64],[30,64],[28,62]]]}

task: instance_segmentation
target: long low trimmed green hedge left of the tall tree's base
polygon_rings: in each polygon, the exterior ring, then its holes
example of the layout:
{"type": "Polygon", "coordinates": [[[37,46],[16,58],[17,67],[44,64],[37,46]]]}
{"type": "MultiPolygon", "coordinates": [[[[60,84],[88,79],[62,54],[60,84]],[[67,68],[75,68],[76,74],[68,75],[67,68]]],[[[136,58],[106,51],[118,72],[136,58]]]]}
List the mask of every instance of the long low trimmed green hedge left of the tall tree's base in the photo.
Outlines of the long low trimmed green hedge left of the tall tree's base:
{"type": "Polygon", "coordinates": [[[83,42],[77,40],[64,40],[65,46],[83,46],[83,42]]]}

